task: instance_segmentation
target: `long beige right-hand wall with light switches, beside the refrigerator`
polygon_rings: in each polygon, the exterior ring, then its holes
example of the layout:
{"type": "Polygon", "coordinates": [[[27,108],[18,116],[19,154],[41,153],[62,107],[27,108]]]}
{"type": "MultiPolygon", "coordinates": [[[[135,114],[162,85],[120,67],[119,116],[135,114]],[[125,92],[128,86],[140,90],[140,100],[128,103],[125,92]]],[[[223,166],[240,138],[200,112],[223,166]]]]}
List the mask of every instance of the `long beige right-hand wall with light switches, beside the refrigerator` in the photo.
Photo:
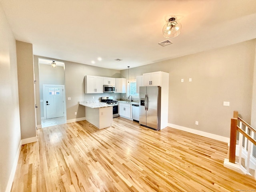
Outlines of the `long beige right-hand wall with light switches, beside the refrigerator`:
{"type": "MultiPolygon", "coordinates": [[[[168,72],[168,122],[229,137],[234,110],[250,122],[254,57],[255,40],[250,40],[131,68],[130,78],[146,72],[168,72]],[[224,101],[229,101],[230,106],[223,106],[224,101]]],[[[121,74],[127,78],[127,70],[121,74]]]]}

